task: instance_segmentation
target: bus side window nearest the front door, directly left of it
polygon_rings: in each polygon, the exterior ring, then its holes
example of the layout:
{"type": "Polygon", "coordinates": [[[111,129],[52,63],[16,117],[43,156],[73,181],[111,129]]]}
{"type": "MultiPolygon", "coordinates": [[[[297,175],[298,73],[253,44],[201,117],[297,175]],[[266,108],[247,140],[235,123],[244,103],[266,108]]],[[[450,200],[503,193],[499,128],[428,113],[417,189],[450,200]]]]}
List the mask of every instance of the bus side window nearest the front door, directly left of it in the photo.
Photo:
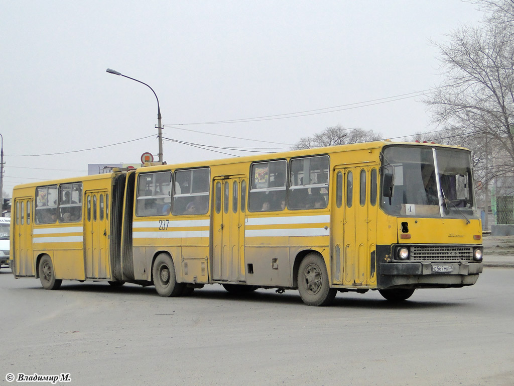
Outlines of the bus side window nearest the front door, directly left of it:
{"type": "Polygon", "coordinates": [[[291,160],[289,209],[320,209],[328,203],[328,155],[291,160]]]}

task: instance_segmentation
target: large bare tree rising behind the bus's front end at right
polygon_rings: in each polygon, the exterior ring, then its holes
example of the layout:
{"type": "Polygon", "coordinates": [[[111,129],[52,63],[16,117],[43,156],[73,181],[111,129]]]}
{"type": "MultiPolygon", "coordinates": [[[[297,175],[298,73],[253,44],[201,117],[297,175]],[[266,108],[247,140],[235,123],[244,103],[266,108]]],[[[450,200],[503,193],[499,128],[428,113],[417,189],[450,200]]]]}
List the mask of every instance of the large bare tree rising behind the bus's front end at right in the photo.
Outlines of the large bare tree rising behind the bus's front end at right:
{"type": "Polygon", "coordinates": [[[514,0],[474,3],[484,19],[436,44],[447,78],[425,102],[445,126],[435,141],[473,151],[480,194],[493,178],[512,174],[514,165],[514,0]]]}

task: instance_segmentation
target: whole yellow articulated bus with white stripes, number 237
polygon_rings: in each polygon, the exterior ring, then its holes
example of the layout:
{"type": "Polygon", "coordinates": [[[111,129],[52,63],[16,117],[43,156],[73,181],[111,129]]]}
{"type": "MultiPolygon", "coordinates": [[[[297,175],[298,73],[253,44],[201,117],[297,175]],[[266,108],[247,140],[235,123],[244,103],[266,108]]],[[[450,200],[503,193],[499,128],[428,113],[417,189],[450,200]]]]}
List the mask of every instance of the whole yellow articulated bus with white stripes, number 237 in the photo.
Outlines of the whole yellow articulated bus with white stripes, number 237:
{"type": "Polygon", "coordinates": [[[470,152],[389,141],[16,186],[12,271],[40,278],[298,289],[307,305],[469,286],[482,272],[470,152]]]}

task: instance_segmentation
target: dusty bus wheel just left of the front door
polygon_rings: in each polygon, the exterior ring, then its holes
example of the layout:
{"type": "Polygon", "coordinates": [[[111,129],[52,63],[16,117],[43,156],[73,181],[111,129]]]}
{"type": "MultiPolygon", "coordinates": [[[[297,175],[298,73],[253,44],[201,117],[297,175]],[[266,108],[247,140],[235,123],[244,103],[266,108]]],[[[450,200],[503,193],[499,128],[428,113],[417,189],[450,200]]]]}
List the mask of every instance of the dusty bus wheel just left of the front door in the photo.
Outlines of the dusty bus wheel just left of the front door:
{"type": "Polygon", "coordinates": [[[298,269],[298,291],[308,306],[327,306],[334,301],[337,290],[330,288],[325,261],[316,253],[309,253],[298,269]]]}

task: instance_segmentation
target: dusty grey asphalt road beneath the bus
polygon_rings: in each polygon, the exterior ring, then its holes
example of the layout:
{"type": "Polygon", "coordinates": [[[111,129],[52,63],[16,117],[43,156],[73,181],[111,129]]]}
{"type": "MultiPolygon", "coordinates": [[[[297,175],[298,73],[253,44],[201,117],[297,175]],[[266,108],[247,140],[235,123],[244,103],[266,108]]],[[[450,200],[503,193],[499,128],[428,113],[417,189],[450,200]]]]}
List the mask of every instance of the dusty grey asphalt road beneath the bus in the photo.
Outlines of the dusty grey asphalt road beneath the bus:
{"type": "Polygon", "coordinates": [[[168,299],[106,283],[47,291],[2,269],[0,384],[70,373],[72,385],[510,386],[513,283],[514,269],[486,267],[472,287],[398,305],[373,291],[308,307],[297,291],[218,285],[168,299]]]}

